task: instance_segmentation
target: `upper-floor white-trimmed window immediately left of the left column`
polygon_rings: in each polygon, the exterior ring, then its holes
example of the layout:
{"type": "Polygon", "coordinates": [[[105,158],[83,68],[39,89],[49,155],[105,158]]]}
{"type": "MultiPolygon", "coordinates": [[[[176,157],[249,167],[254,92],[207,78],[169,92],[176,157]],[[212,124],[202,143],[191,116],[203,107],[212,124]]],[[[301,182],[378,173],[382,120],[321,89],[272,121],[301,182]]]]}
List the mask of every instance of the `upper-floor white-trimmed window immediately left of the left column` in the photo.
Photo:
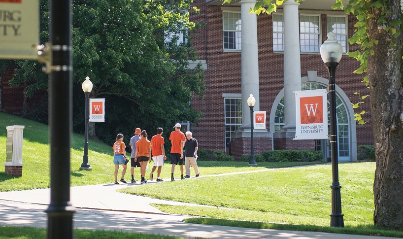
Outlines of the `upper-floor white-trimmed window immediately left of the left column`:
{"type": "Polygon", "coordinates": [[[223,12],[223,47],[225,50],[240,50],[241,41],[241,13],[223,12]]]}

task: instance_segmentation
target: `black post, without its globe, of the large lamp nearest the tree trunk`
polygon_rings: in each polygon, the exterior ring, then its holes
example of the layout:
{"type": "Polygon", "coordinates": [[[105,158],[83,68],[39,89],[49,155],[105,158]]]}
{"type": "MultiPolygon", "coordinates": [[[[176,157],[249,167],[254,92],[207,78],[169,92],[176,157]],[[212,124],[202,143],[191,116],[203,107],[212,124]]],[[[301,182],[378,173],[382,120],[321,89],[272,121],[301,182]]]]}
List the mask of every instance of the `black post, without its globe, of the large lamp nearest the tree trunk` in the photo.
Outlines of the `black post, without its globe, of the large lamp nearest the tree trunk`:
{"type": "Polygon", "coordinates": [[[329,69],[329,102],[330,102],[330,145],[332,151],[332,213],[330,214],[331,227],[344,227],[343,213],[341,213],[340,183],[338,182],[337,157],[337,122],[336,122],[336,68],[338,63],[325,64],[329,69]]]}

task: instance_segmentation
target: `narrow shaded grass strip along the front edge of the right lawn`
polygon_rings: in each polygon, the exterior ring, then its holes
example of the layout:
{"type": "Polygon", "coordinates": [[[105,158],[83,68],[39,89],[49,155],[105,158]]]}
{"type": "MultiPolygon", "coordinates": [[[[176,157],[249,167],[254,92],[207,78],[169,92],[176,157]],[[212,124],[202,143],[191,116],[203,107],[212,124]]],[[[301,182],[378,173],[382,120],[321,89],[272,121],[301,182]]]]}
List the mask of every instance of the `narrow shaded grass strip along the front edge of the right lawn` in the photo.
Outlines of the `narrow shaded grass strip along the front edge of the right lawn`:
{"type": "Polygon", "coordinates": [[[403,238],[402,231],[393,231],[388,230],[386,228],[379,228],[371,224],[362,224],[355,227],[348,226],[340,228],[340,227],[321,227],[313,225],[292,225],[292,224],[276,224],[268,222],[235,221],[235,220],[216,219],[216,218],[188,218],[185,219],[184,221],[196,224],[221,225],[221,226],[243,227],[243,228],[324,232],[324,233],[403,238]]]}

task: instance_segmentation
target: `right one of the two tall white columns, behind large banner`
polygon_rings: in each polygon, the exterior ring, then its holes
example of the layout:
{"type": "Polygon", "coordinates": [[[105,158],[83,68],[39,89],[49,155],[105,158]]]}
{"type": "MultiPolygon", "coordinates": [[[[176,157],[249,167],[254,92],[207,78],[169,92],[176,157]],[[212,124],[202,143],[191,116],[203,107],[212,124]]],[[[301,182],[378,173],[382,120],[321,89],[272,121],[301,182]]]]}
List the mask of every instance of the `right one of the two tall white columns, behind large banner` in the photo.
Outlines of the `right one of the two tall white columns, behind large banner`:
{"type": "Polygon", "coordinates": [[[300,3],[288,0],[284,7],[284,107],[287,131],[295,131],[296,105],[294,91],[301,90],[300,27],[298,6],[300,3]]]}

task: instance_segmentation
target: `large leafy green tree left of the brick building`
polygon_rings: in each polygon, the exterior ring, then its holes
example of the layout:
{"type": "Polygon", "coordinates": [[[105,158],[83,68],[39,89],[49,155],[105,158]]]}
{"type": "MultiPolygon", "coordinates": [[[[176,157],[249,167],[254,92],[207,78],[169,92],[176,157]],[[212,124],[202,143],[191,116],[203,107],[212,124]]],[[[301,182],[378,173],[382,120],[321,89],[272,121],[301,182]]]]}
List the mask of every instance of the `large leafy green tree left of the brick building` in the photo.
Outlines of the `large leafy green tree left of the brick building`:
{"type": "MultiPolygon", "coordinates": [[[[177,43],[175,36],[196,25],[185,11],[191,9],[190,3],[72,0],[74,132],[84,129],[81,84],[86,76],[94,84],[90,97],[105,98],[106,122],[98,123],[94,131],[105,142],[111,142],[117,133],[131,135],[136,127],[155,131],[175,121],[196,122],[201,117],[189,102],[193,94],[203,96],[203,70],[201,65],[188,69],[188,62],[197,60],[196,51],[190,39],[177,43]],[[167,40],[168,33],[174,37],[167,40]]],[[[49,13],[44,0],[41,7],[46,22],[49,13]]],[[[47,28],[42,28],[42,35],[48,37],[47,28]]],[[[22,72],[14,77],[15,85],[40,72],[37,65],[21,61],[18,70],[22,72]]],[[[30,89],[47,88],[47,76],[34,78],[30,89]]]]}

